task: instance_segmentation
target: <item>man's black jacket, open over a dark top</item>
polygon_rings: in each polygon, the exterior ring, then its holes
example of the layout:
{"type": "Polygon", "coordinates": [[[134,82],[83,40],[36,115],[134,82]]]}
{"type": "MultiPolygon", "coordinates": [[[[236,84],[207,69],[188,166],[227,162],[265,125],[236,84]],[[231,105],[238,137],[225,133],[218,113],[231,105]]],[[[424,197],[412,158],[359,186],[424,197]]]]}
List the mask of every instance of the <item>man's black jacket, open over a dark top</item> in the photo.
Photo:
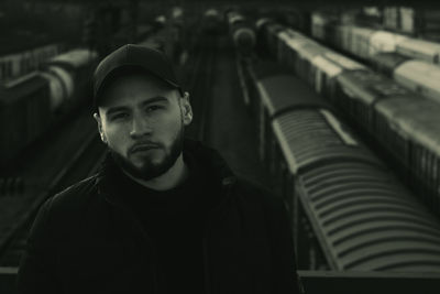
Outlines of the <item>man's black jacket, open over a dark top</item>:
{"type": "MultiPolygon", "coordinates": [[[[204,163],[219,195],[202,238],[206,293],[299,293],[283,202],[238,179],[216,151],[187,141],[184,152],[204,163]]],[[[135,214],[98,173],[42,206],[19,292],[160,293],[154,250],[135,214]]]]}

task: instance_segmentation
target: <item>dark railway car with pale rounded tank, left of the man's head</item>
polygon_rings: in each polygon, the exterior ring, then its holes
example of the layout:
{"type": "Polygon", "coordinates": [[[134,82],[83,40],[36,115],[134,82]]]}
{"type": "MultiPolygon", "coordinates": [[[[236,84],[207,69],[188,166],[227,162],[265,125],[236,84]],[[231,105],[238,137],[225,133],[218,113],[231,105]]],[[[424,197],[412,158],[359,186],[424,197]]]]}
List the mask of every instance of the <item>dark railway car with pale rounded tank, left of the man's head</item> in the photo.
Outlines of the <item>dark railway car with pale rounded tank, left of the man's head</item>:
{"type": "Polygon", "coordinates": [[[45,62],[41,69],[1,88],[0,164],[86,101],[97,53],[73,50],[45,62]]]}

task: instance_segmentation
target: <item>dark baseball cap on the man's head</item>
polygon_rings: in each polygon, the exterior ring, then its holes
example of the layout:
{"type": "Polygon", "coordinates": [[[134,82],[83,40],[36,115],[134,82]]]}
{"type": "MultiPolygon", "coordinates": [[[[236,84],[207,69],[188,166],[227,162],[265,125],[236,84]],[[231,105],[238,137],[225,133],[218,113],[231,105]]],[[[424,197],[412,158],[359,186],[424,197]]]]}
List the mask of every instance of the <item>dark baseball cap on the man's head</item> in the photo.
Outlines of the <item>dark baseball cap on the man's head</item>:
{"type": "Polygon", "coordinates": [[[110,53],[98,64],[94,74],[94,109],[98,107],[100,94],[109,77],[128,67],[144,69],[170,87],[177,88],[183,95],[173,65],[165,53],[145,45],[127,44],[110,53]]]}

